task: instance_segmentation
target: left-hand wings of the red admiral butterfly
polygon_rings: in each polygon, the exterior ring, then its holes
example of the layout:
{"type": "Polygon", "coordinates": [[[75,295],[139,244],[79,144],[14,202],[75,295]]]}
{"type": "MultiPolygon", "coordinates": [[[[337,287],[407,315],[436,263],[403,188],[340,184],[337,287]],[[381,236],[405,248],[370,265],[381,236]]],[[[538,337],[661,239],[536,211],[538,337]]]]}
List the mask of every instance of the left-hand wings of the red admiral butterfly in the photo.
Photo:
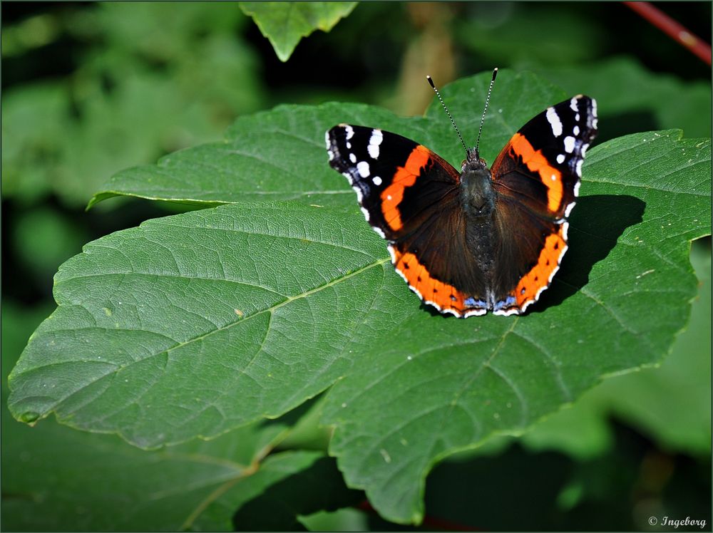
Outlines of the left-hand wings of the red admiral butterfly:
{"type": "MultiPolygon", "coordinates": [[[[396,271],[443,313],[483,314],[483,279],[466,245],[458,200],[460,174],[428,148],[401,135],[340,124],[327,132],[329,165],[347,177],[366,220],[389,240],[396,271]]],[[[484,287],[483,287],[484,294],[484,287]]]]}

